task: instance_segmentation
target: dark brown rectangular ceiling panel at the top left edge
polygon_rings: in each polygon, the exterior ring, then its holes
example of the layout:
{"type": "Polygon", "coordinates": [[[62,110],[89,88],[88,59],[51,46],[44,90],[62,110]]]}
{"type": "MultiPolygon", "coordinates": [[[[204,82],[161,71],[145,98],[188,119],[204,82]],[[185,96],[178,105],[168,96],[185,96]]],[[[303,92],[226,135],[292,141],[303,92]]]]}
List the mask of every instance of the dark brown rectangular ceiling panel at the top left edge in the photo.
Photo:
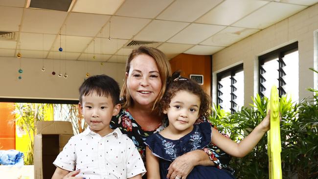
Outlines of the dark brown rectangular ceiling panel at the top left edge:
{"type": "Polygon", "coordinates": [[[72,0],[31,0],[31,8],[50,9],[68,12],[72,0]]]}

